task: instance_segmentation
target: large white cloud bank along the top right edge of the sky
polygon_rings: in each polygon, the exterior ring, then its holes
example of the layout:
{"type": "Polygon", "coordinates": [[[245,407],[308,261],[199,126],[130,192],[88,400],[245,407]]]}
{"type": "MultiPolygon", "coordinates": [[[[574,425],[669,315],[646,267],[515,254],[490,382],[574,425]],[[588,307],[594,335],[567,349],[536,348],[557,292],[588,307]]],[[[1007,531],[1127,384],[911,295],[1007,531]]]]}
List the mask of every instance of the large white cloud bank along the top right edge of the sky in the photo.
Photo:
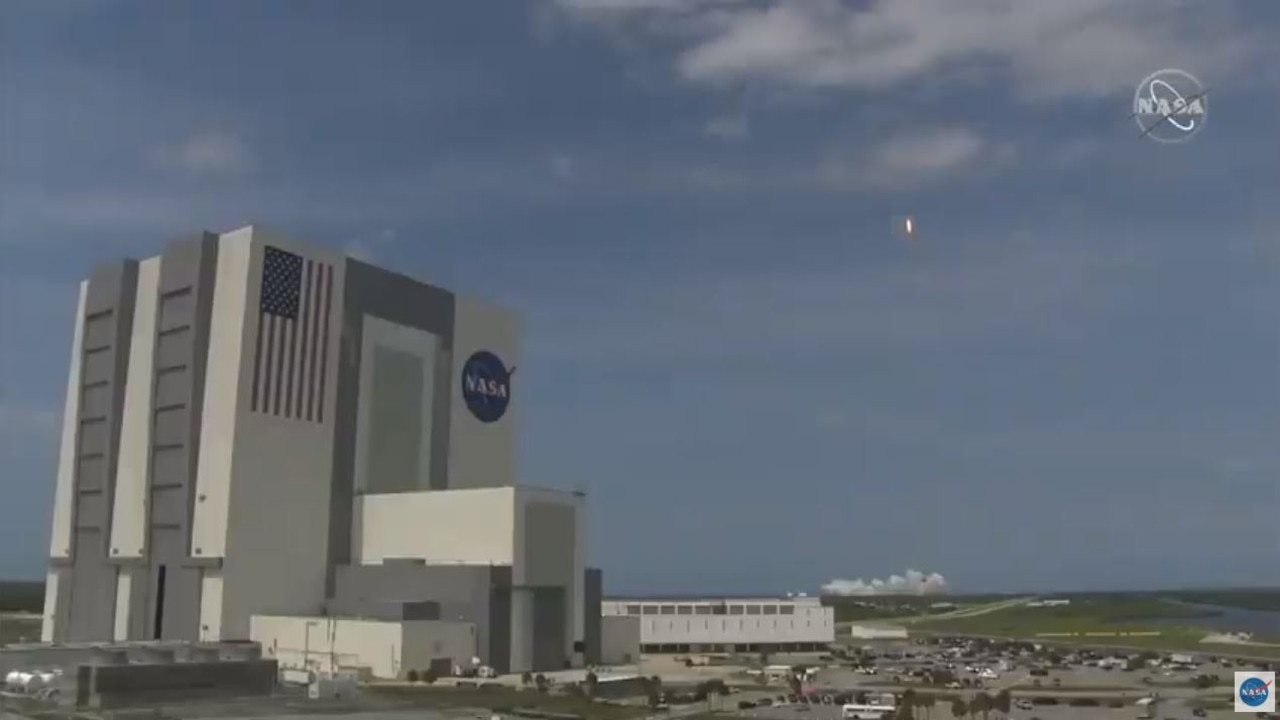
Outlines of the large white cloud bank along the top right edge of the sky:
{"type": "MultiPolygon", "coordinates": [[[[1170,63],[1221,77],[1274,37],[1228,3],[1128,0],[559,0],[571,17],[675,47],[681,77],[712,86],[882,90],[960,77],[975,64],[1010,76],[1028,100],[1132,91],[1170,63]],[[1171,50],[1172,49],[1172,50],[1171,50]],[[1172,54],[1172,56],[1171,56],[1172,54]]],[[[655,44],[658,45],[658,44],[655,44]]],[[[1210,82],[1212,85],[1212,82],[1210,82]]]]}

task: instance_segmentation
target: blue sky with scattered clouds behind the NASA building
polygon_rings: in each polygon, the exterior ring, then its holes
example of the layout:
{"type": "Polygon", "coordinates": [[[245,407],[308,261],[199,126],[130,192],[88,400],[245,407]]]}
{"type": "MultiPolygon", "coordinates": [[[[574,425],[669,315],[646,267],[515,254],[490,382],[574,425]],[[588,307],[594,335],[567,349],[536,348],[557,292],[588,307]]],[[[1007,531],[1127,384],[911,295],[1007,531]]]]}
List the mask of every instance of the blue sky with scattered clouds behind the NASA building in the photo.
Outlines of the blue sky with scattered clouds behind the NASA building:
{"type": "Polygon", "coordinates": [[[0,575],[76,281],[253,222],[524,313],[522,475],[589,489],[611,591],[1280,577],[1277,5],[0,15],[0,575]],[[1181,145],[1129,118],[1166,67],[1181,145]]]}

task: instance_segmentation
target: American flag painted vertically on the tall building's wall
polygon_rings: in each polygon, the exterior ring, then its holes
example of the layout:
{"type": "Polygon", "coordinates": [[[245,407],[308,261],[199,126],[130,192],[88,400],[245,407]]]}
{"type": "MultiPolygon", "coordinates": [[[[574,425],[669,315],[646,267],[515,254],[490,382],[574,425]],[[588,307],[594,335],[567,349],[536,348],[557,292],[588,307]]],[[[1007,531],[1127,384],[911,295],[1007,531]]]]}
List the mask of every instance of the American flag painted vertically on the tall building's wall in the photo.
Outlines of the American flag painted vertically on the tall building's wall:
{"type": "Polygon", "coordinates": [[[264,415],[323,423],[333,266],[266,247],[261,281],[251,407],[264,415]]]}

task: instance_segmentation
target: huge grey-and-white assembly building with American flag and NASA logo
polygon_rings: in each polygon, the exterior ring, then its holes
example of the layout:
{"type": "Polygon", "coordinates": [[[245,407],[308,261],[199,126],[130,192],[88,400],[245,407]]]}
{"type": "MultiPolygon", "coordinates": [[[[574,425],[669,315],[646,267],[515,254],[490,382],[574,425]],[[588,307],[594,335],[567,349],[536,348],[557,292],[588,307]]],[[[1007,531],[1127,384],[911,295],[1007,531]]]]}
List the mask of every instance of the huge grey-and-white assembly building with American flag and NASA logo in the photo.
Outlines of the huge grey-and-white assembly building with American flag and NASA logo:
{"type": "Polygon", "coordinates": [[[593,662],[584,498],[516,484],[518,351],[504,310],[256,227],[93,269],[42,639],[593,662]]]}

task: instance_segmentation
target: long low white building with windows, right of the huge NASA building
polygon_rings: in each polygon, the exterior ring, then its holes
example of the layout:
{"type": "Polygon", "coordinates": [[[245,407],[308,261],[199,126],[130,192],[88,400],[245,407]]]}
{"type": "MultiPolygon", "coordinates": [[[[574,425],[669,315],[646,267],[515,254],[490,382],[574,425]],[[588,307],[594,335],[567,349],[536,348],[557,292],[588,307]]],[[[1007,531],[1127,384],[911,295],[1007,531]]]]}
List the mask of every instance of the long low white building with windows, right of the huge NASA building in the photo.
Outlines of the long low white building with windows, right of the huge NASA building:
{"type": "Polygon", "coordinates": [[[815,597],[611,597],[600,607],[636,618],[646,653],[814,652],[836,642],[833,610],[815,597]]]}

